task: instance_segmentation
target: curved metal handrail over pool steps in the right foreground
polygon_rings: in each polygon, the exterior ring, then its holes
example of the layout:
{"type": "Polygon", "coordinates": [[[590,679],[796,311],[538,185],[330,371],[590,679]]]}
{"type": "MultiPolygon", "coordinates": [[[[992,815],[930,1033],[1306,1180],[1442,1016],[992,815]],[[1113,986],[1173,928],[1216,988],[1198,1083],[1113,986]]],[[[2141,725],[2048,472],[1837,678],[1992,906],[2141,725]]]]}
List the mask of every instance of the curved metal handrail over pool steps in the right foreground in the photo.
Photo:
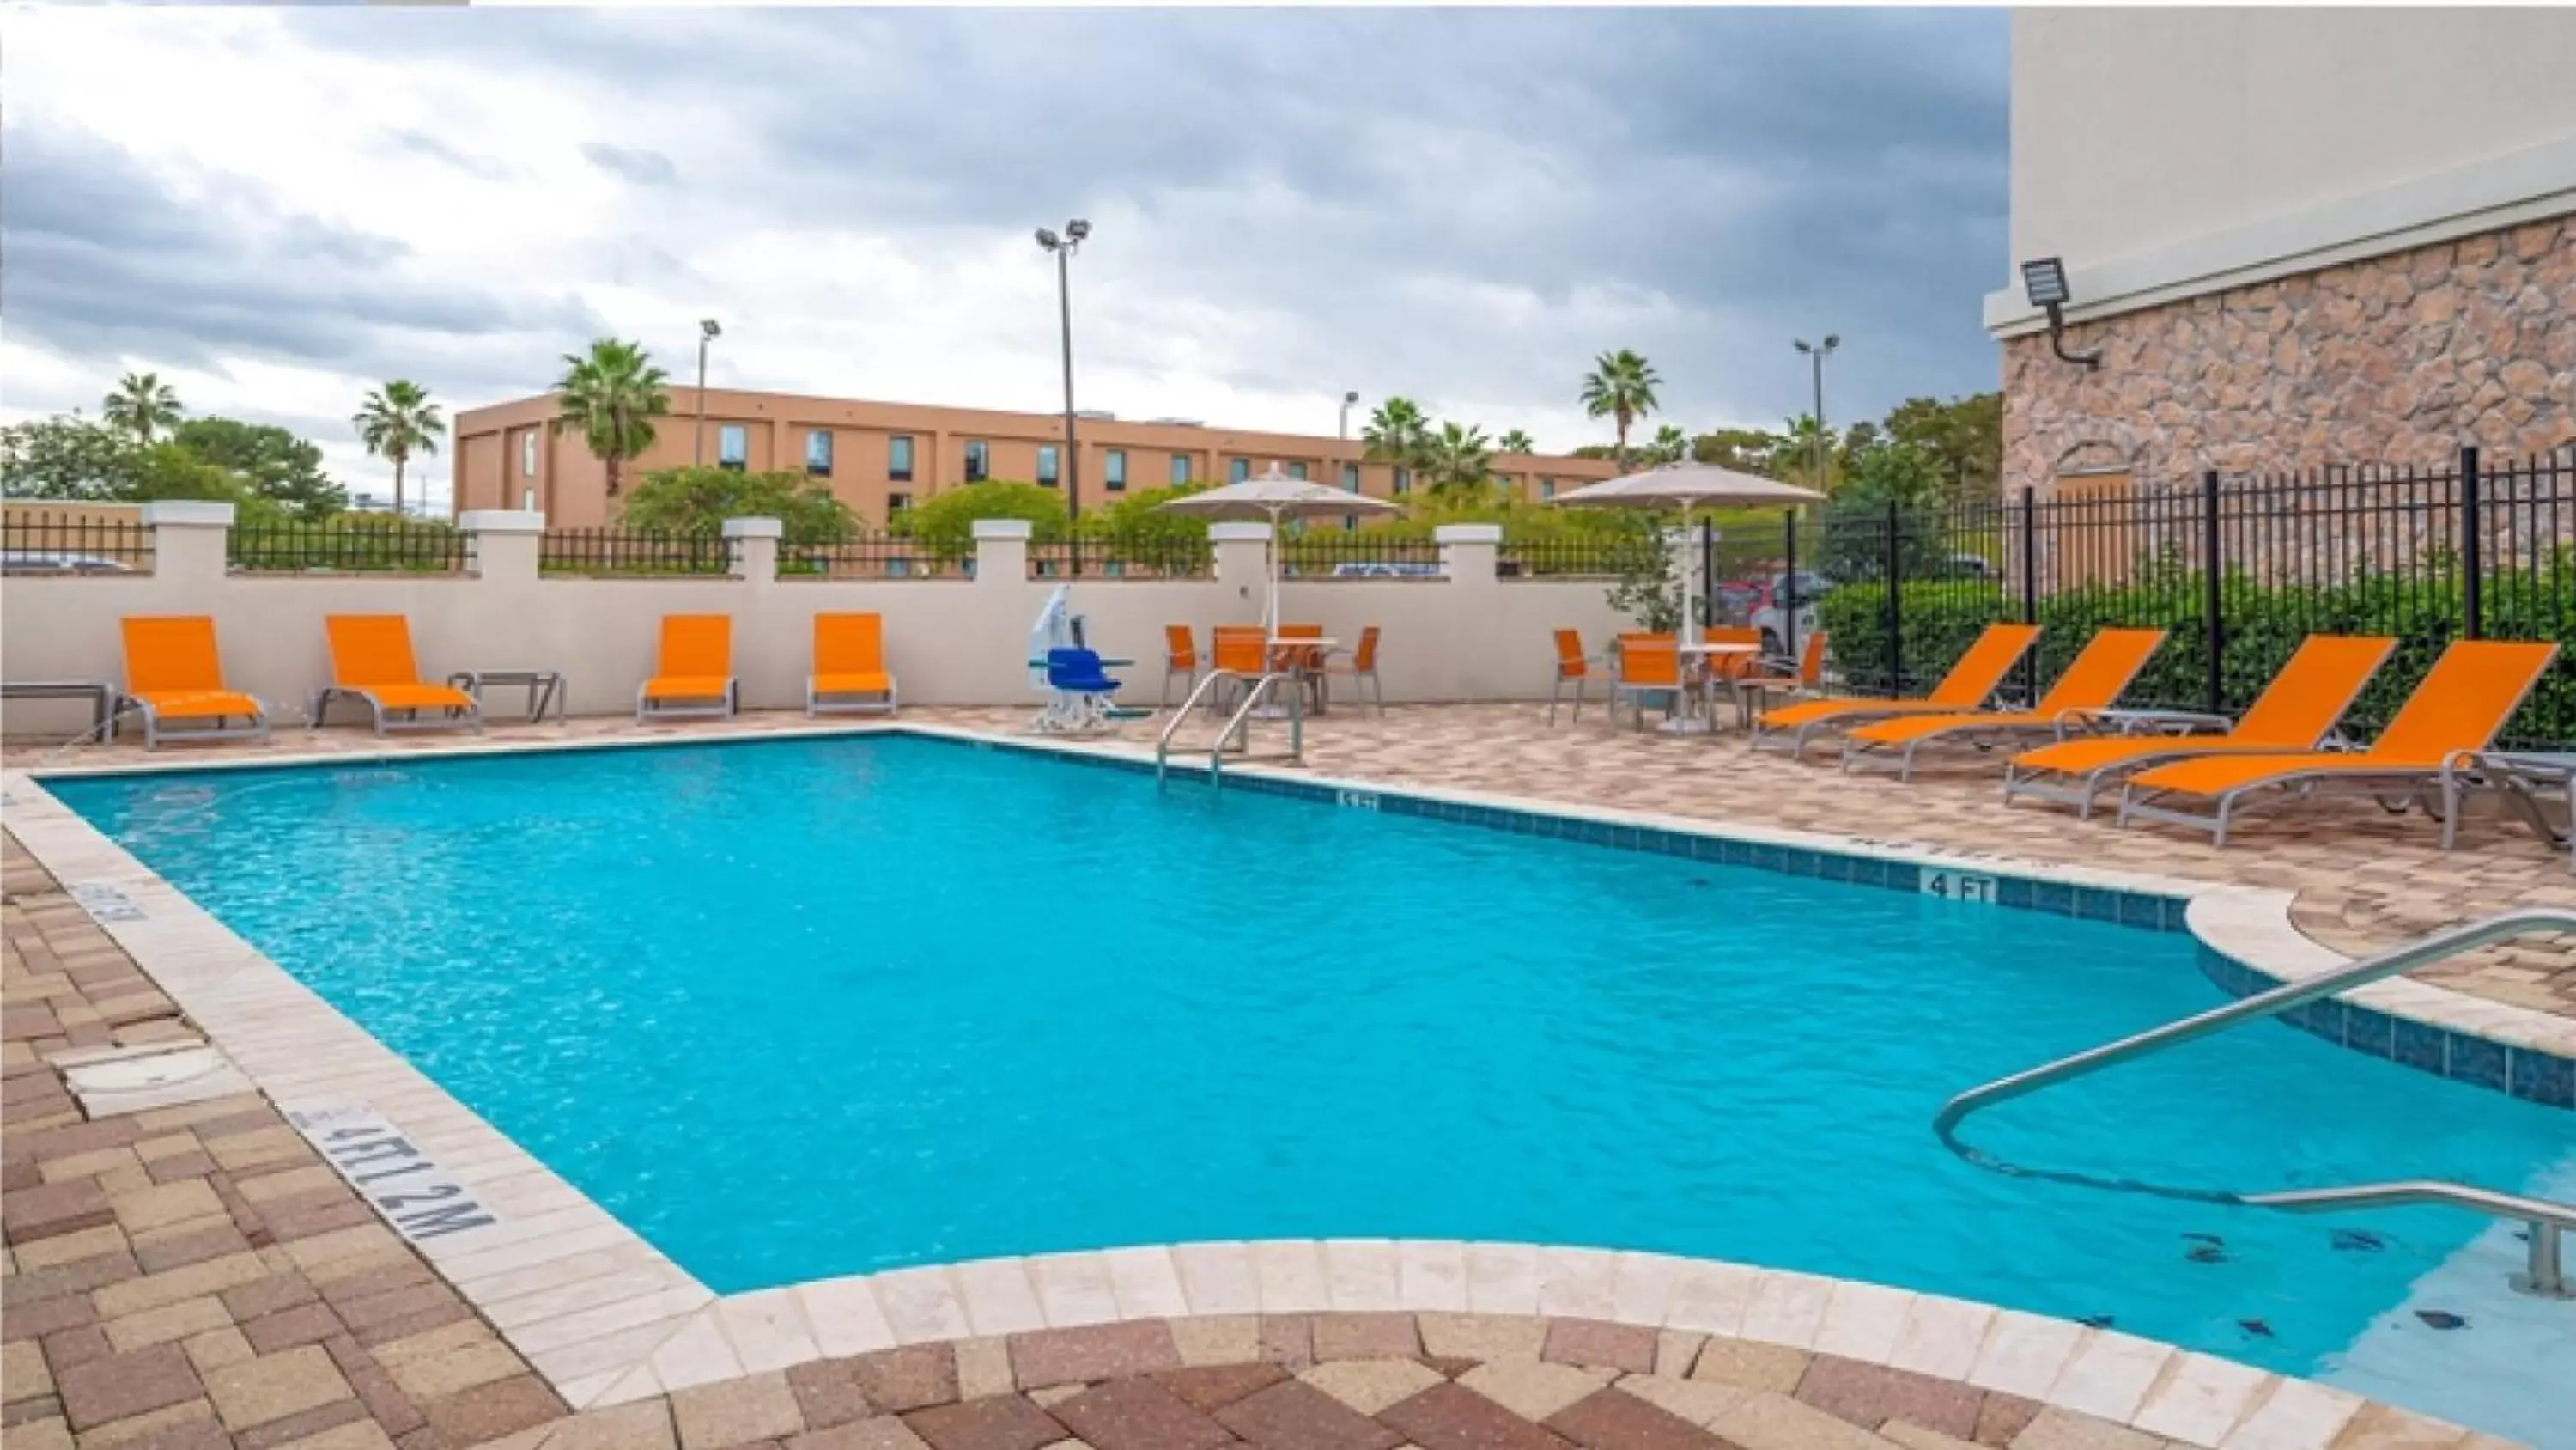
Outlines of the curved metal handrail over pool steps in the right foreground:
{"type": "Polygon", "coordinates": [[[2105,1066],[2117,1066],[2130,1059],[2143,1059],[2172,1046],[2182,1046],[2210,1033],[2223,1033],[2236,1022],[2249,1022],[2254,1017],[2275,1017],[2293,1007],[2316,1002],[2318,997],[2331,997],[2347,986],[2362,986],[2367,981],[2380,981],[2383,976],[2398,976],[2401,971],[2414,971],[2465,950],[2481,948],[2486,943],[2501,943],[2509,937],[2527,937],[2535,932],[2576,932],[2576,909],[2566,907],[2522,907],[2514,912],[2501,912],[2481,922],[2468,922],[2463,927],[2450,927],[2419,937],[2414,943],[2388,948],[2375,956],[2365,956],[2334,971],[2311,976],[2306,981],[2290,981],[2269,992],[2257,992],[2241,1002],[2228,1002],[2226,1007],[2213,1007],[2197,1017],[2184,1017],[2179,1022],[2166,1022],[2161,1028],[2138,1033],[2133,1038],[2120,1038],[2117,1043],[2105,1043],[2099,1048],[2087,1048],[2074,1056],[2063,1056],[2053,1064],[2043,1064],[2012,1077],[1999,1077],[1984,1087],[1971,1087],[1950,1102],[1942,1105],[1940,1115],[1932,1120],[1932,1131],[1940,1136],[1942,1146],[1953,1154],[1968,1159],[1976,1167],[2007,1172],[2014,1177],[2045,1177],[2053,1182],[2074,1182],[2084,1187],[2110,1187],[2123,1192],[2154,1192],[2159,1198],[2195,1198],[2202,1203],[2244,1203],[2251,1208],[2287,1208],[2290,1213],[2334,1213],[2344,1208],[2378,1208],[2401,1203],[2445,1203],[2450,1208],[2470,1208],[2486,1213],[2488,1218],[2519,1218],[2530,1226],[2530,1259],[2524,1272],[2512,1277],[2512,1285],[2522,1293],[2535,1293],[2545,1298],[2576,1298],[2576,1285],[2571,1285],[2563,1259],[2561,1239],[2568,1229],[2576,1229],[2576,1205],[2553,1203],[2545,1198],[2522,1198],[2519,1192],[2496,1192],[2491,1187],[2476,1187],[2465,1182],[2439,1182],[2439,1180],[2398,1180],[2398,1182],[2357,1182],[2347,1187],[2293,1187],[2280,1192],[2226,1192],[2210,1187],[2161,1187],[2151,1182],[2133,1180],[2105,1180],[2079,1172],[2058,1169],[2030,1169],[2020,1164],[2007,1164],[1958,1141],[1958,1125],[1968,1120],[1971,1113],[2040,1092],[2043,1087],[2056,1087],[2061,1082],[2089,1077],[2105,1066]]]}

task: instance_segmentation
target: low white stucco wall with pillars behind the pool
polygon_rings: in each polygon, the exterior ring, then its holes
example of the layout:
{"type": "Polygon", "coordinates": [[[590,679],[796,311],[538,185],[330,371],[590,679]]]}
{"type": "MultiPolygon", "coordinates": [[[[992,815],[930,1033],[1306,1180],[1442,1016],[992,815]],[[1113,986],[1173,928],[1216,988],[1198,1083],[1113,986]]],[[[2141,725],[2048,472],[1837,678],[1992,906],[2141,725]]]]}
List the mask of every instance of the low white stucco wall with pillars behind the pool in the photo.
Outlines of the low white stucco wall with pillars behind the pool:
{"type": "MultiPolygon", "coordinates": [[[[984,541],[976,579],[889,582],[768,579],[765,569],[734,579],[556,579],[536,577],[533,538],[523,543],[518,567],[492,577],[260,577],[222,572],[219,528],[162,531],[157,572],[147,577],[8,579],[0,587],[0,659],[13,680],[121,680],[124,616],[204,613],[216,621],[227,680],[268,701],[273,721],[294,724],[307,693],[330,680],[322,618],[402,613],[430,680],[466,667],[562,670],[574,713],[621,713],[634,708],[636,685],[652,672],[665,613],[726,613],[742,703],[796,708],[814,616],[876,610],[886,618],[889,667],[904,703],[1036,706],[1041,698],[1028,685],[1028,631],[1054,582],[1023,577],[1025,554],[1015,541],[984,541]]],[[[1283,613],[1321,623],[1345,644],[1381,626],[1391,703],[1546,698],[1553,628],[1579,628],[1595,649],[1628,628],[1610,610],[1602,579],[1494,579],[1492,546],[1453,546],[1450,556],[1455,579],[1291,579],[1283,613]]],[[[1074,610],[1087,616],[1095,649],[1139,662],[1115,675],[1128,683],[1131,703],[1151,703],[1167,623],[1193,626],[1200,652],[1208,626],[1260,623],[1260,561],[1257,541],[1221,543],[1216,579],[1074,582],[1074,610]]],[[[495,713],[515,711],[518,698],[518,690],[500,690],[495,713]]],[[[70,734],[82,708],[10,701],[5,724],[18,734],[70,734]]],[[[363,711],[335,719],[363,719],[363,711]]]]}

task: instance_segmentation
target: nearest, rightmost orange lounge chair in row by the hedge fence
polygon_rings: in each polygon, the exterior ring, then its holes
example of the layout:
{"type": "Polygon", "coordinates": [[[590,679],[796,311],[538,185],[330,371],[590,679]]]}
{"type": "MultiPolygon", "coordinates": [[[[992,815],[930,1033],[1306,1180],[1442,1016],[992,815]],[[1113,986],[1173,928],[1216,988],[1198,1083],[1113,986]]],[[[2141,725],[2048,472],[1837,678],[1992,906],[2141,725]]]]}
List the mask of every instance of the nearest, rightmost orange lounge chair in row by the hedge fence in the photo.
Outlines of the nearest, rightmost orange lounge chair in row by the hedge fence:
{"type": "Polygon", "coordinates": [[[2300,786],[2300,796],[2311,796],[2316,786],[2360,786],[2372,793],[2403,788],[2409,801],[2429,801],[2432,793],[2452,801],[2458,775],[2514,719],[2555,654],[2550,641],[2458,639],[2432,662],[2370,749],[2215,755],[2141,770],[2120,788],[2120,824],[2138,819],[2195,827],[2210,832],[2213,845],[2228,845],[2239,801],[2272,786],[2300,786]],[[2169,804],[2182,798],[2208,801],[2210,811],[2169,804]]]}

